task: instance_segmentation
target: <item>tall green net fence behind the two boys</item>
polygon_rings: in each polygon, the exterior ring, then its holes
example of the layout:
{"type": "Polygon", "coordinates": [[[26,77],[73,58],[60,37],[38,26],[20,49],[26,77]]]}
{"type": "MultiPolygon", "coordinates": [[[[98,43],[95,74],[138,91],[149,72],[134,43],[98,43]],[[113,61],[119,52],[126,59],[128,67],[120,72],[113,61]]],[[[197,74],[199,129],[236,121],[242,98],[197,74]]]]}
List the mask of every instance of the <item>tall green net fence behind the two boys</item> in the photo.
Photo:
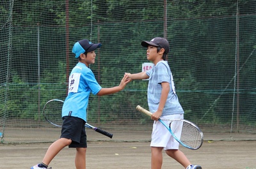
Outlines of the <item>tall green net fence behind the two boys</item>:
{"type": "MultiPolygon", "coordinates": [[[[76,41],[102,43],[90,68],[102,87],[113,87],[125,72],[143,70],[148,61],[140,43],[157,36],[170,42],[168,63],[184,118],[209,133],[206,140],[255,140],[255,2],[2,0],[0,11],[1,142],[60,136],[42,108],[67,96],[76,41]]],[[[150,140],[140,135],[150,133],[152,121],[135,109],[148,108],[147,83],[92,94],[88,123],[115,133],[114,140],[150,140]]]]}

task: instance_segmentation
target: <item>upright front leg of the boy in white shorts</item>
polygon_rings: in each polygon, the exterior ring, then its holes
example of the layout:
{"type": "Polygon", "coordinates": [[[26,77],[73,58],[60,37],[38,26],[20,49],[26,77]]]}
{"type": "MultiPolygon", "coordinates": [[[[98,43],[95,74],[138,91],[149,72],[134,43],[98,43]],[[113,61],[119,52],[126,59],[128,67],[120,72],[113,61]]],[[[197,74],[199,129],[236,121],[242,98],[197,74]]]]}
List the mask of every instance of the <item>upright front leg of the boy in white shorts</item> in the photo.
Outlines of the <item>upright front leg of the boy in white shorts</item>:
{"type": "Polygon", "coordinates": [[[163,147],[151,147],[151,169],[161,169],[163,164],[163,147]]]}

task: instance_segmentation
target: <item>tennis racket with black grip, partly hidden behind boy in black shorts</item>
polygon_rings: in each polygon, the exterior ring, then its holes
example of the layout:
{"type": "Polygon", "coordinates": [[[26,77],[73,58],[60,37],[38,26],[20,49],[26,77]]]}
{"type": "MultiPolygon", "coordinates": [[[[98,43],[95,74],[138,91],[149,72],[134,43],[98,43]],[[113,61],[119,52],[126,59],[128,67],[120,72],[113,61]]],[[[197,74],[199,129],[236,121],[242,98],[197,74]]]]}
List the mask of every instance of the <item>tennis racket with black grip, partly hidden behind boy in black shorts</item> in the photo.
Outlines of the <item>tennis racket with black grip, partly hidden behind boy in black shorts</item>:
{"type": "MultiPolygon", "coordinates": [[[[61,128],[62,125],[62,119],[61,119],[61,110],[63,106],[64,101],[60,99],[51,99],[47,101],[44,105],[43,109],[43,115],[47,122],[50,122],[52,125],[57,126],[61,128]]],[[[104,131],[102,129],[96,128],[87,122],[84,125],[86,128],[93,129],[94,131],[97,131],[98,133],[108,136],[109,138],[113,137],[113,134],[108,133],[107,131],[104,131]]]]}

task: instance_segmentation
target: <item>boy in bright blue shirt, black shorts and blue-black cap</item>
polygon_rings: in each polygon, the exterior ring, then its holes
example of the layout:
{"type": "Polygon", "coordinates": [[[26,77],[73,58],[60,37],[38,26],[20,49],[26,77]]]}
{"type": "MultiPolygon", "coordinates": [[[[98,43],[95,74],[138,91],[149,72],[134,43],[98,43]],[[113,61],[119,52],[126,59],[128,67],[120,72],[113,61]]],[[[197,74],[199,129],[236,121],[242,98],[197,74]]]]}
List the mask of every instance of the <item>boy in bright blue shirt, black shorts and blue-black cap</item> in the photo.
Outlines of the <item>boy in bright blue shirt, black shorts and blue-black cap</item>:
{"type": "Polygon", "coordinates": [[[95,76],[88,68],[95,62],[95,50],[100,48],[100,43],[92,43],[89,40],[77,41],[74,44],[72,52],[78,59],[77,65],[70,73],[68,82],[68,96],[65,99],[62,108],[63,124],[59,140],[52,143],[48,148],[42,163],[32,166],[31,169],[45,169],[52,159],[64,147],[76,148],[75,165],[76,169],[86,168],[86,133],[84,124],[86,122],[86,108],[90,92],[103,96],[122,91],[125,85],[129,83],[129,78],[124,75],[120,84],[116,87],[102,88],[98,84],[95,76]]]}

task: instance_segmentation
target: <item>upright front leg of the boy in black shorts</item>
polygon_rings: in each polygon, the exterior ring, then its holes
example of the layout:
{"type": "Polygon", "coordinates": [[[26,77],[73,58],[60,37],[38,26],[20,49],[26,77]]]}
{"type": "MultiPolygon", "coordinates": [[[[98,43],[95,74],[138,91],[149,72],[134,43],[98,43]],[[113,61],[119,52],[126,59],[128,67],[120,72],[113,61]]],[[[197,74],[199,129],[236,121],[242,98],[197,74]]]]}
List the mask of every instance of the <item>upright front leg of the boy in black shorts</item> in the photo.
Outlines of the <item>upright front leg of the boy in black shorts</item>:
{"type": "Polygon", "coordinates": [[[76,148],[76,159],[75,159],[76,169],[86,168],[86,148],[76,148]]]}

